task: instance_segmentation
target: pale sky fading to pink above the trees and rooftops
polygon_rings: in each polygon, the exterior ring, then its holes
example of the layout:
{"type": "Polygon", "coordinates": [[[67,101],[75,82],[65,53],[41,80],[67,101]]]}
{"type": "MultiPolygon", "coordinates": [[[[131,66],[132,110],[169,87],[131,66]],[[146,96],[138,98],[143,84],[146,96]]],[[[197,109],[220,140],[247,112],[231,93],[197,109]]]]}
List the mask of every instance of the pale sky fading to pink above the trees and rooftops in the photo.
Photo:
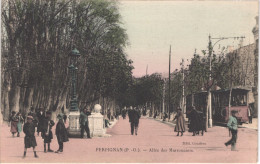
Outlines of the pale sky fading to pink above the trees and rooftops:
{"type": "MultiPolygon", "coordinates": [[[[133,75],[141,77],[147,65],[148,74],[168,73],[170,45],[173,71],[180,68],[182,58],[187,65],[195,49],[199,54],[206,50],[209,35],[245,36],[243,45],[253,43],[258,1],[121,0],[119,11],[129,37],[127,57],[133,60],[133,75]]],[[[240,39],[223,40],[214,51],[227,46],[237,48],[239,43],[240,39]]]]}

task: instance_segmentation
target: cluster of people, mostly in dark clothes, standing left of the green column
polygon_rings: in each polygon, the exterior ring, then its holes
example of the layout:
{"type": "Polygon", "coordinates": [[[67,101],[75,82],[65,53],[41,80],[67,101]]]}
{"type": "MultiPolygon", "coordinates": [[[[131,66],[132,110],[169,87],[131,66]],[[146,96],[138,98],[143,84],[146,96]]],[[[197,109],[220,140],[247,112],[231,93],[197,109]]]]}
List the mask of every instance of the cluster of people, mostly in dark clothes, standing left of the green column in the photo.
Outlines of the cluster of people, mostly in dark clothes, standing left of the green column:
{"type": "MultiPolygon", "coordinates": [[[[44,152],[54,152],[51,149],[51,141],[53,139],[52,127],[55,125],[54,121],[51,119],[52,113],[50,111],[45,112],[44,108],[40,108],[36,114],[33,109],[27,114],[26,123],[23,125],[23,132],[25,134],[24,137],[24,155],[23,158],[26,157],[27,149],[33,148],[34,157],[38,158],[38,155],[35,151],[35,147],[37,146],[36,138],[35,138],[35,129],[37,127],[37,135],[41,133],[41,137],[43,139],[44,144],[44,152]]],[[[59,144],[59,148],[55,153],[63,152],[63,142],[67,142],[68,134],[64,124],[64,115],[57,115],[57,125],[56,125],[56,137],[59,144]]],[[[15,114],[12,112],[10,117],[11,123],[11,133],[14,134],[17,132],[17,137],[20,136],[20,132],[22,131],[22,123],[24,118],[21,116],[21,113],[15,114]]],[[[66,119],[65,119],[66,120],[66,119]]]]}

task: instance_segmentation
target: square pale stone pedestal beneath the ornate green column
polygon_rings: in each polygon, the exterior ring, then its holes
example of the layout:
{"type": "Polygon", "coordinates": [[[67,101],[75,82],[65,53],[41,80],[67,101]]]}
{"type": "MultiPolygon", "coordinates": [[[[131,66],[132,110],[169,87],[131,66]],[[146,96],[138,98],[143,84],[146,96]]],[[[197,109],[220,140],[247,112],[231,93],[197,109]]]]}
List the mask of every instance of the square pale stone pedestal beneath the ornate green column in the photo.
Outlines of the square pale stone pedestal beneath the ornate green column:
{"type": "Polygon", "coordinates": [[[79,111],[71,111],[69,114],[69,136],[70,137],[80,137],[80,124],[79,124],[79,111]]]}

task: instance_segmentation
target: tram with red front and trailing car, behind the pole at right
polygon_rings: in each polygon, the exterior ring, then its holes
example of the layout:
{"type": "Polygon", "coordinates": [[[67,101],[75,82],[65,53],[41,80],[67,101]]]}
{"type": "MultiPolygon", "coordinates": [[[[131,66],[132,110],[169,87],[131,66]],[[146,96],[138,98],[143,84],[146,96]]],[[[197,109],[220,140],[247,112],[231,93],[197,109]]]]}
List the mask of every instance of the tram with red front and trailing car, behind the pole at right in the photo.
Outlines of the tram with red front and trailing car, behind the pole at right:
{"type": "MultiPolygon", "coordinates": [[[[220,89],[211,91],[212,95],[212,119],[215,123],[227,123],[231,111],[237,111],[236,117],[239,123],[248,122],[249,101],[248,94],[250,89],[234,87],[231,90],[231,104],[229,111],[230,89],[220,89]]],[[[189,111],[192,106],[196,110],[203,112],[206,116],[207,111],[207,91],[202,91],[186,96],[186,111],[189,117],[189,111]]]]}

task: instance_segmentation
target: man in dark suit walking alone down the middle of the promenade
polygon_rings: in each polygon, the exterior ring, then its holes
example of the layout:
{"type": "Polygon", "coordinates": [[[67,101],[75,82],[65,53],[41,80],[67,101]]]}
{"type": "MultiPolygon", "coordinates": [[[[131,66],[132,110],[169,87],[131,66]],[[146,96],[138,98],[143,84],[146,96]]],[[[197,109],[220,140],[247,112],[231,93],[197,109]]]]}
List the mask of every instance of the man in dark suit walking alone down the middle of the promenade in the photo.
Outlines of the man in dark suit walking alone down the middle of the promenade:
{"type": "Polygon", "coordinates": [[[130,107],[130,110],[128,111],[128,116],[131,125],[131,135],[133,135],[134,132],[135,135],[137,135],[139,119],[141,117],[140,112],[137,109],[133,109],[132,107],[130,107]]]}

